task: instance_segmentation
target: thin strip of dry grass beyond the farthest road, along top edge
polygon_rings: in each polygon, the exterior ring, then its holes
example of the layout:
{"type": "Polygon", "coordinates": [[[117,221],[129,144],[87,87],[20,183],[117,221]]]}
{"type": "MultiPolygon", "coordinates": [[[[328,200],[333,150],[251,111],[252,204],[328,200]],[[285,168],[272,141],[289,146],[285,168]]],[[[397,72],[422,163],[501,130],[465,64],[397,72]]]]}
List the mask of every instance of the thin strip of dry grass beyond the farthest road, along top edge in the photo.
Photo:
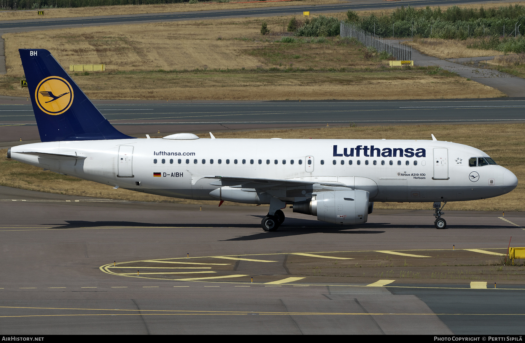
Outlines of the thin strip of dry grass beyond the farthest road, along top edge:
{"type": "Polygon", "coordinates": [[[38,9],[31,11],[2,11],[0,20],[27,20],[27,19],[50,19],[50,18],[74,18],[74,17],[94,17],[108,15],[130,15],[144,13],[175,13],[175,12],[194,12],[194,11],[217,11],[218,9],[242,9],[242,8],[261,8],[261,7],[281,7],[281,6],[315,6],[325,4],[342,4],[348,1],[342,0],[296,0],[285,2],[251,3],[236,4],[232,3],[197,3],[188,4],[158,4],[158,5],[116,5],[116,6],[95,6],[77,8],[46,8],[43,9],[44,15],[38,15],[38,9]]]}

